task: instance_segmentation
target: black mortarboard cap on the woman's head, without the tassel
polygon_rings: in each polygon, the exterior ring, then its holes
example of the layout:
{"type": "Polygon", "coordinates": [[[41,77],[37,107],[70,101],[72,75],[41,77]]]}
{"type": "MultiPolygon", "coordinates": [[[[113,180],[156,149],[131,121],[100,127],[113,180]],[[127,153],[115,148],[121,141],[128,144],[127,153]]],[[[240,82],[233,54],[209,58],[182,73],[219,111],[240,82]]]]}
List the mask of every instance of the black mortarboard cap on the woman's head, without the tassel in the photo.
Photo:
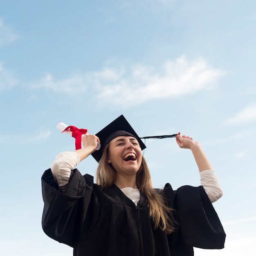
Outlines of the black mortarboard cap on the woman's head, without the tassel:
{"type": "Polygon", "coordinates": [[[99,148],[99,150],[96,150],[92,153],[92,156],[97,162],[99,162],[99,160],[101,159],[103,150],[106,145],[117,136],[128,135],[135,137],[139,142],[141,150],[144,150],[146,148],[145,144],[141,141],[135,130],[133,130],[132,126],[130,126],[130,124],[123,115],[117,117],[117,119],[112,121],[112,123],[110,123],[108,126],[103,128],[95,135],[99,137],[99,140],[101,142],[101,147],[99,148]]]}

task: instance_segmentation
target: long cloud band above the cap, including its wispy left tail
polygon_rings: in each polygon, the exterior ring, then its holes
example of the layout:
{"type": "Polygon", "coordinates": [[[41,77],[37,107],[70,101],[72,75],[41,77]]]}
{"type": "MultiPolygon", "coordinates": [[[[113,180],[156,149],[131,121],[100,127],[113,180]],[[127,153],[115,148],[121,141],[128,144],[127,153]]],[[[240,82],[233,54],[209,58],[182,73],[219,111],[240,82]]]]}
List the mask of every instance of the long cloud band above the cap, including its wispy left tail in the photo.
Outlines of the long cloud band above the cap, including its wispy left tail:
{"type": "Polygon", "coordinates": [[[202,58],[189,61],[181,56],[175,61],[166,61],[162,68],[140,64],[130,68],[106,67],[99,72],[78,72],[59,81],[47,74],[33,87],[70,94],[85,93],[90,88],[101,104],[125,107],[131,100],[134,106],[152,99],[212,89],[223,74],[225,72],[211,67],[202,58]]]}

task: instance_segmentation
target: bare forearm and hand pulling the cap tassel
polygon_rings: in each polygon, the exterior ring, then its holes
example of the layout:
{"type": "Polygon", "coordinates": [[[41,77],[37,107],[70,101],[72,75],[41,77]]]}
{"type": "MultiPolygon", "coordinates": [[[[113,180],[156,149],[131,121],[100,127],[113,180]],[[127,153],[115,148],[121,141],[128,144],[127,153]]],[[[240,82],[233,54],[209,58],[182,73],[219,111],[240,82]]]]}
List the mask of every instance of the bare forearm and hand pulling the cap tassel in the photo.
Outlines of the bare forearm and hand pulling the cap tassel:
{"type": "Polygon", "coordinates": [[[192,151],[199,172],[213,169],[198,141],[193,141],[193,138],[189,136],[181,136],[179,132],[176,136],[176,142],[180,148],[188,148],[192,151]]]}

